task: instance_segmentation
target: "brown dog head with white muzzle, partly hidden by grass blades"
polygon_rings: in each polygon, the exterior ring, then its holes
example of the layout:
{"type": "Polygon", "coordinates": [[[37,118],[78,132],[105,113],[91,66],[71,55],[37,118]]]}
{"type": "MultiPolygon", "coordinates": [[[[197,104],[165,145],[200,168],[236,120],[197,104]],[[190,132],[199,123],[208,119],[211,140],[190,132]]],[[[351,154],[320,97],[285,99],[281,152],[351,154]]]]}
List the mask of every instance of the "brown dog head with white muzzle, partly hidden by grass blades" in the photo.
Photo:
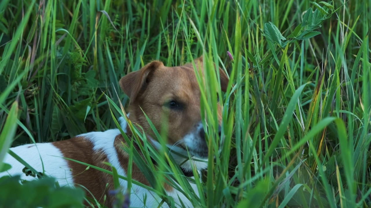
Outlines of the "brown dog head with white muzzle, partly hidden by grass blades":
{"type": "MultiPolygon", "coordinates": [[[[197,58],[195,64],[203,77],[203,58],[197,58]]],[[[219,72],[220,87],[225,92],[229,79],[220,68],[219,72]]],[[[122,77],[119,84],[130,98],[128,112],[133,123],[139,124],[145,132],[151,134],[143,110],[160,132],[165,115],[168,121],[168,147],[181,154],[189,152],[193,158],[207,159],[208,147],[201,122],[201,92],[193,64],[166,67],[160,61],[152,61],[140,70],[122,77]]],[[[212,110],[217,111],[217,131],[220,135],[222,107],[218,104],[217,109],[212,110]]]]}

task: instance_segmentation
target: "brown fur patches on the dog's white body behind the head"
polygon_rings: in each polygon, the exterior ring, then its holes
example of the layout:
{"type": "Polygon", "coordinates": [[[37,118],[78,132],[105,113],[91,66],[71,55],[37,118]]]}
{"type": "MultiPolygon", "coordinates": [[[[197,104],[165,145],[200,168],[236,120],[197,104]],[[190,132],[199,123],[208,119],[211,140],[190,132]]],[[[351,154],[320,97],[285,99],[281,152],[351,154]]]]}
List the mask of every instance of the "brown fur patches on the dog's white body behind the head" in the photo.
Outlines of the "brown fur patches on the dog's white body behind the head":
{"type": "MultiPolygon", "coordinates": [[[[122,135],[117,135],[114,141],[115,150],[118,155],[118,160],[121,167],[125,170],[125,173],[127,173],[129,155],[124,150],[122,150],[121,142],[126,144],[122,135]]],[[[107,156],[101,151],[93,151],[93,144],[86,138],[74,137],[69,140],[53,142],[52,144],[62,152],[63,157],[78,160],[99,168],[112,171],[109,166],[103,164],[103,162],[108,162],[107,156]]],[[[137,151],[139,152],[139,154],[141,154],[141,150],[137,149],[137,151]]],[[[114,196],[108,195],[109,190],[114,190],[112,175],[106,174],[99,170],[95,170],[94,168],[89,168],[88,170],[86,170],[85,165],[79,164],[77,162],[73,162],[70,160],[67,160],[67,162],[68,166],[70,167],[70,170],[67,171],[72,171],[73,182],[75,184],[82,185],[83,187],[88,189],[91,194],[88,191],[85,191],[87,196],[96,198],[100,203],[103,203],[104,195],[106,195],[106,201],[104,205],[110,207],[114,202],[114,196]],[[106,184],[108,185],[106,186],[106,184]]],[[[151,186],[142,172],[139,170],[137,165],[135,165],[134,163],[132,164],[132,178],[144,185],[151,186]]],[[[163,186],[166,191],[173,190],[173,187],[171,187],[166,182],[164,182],[163,186]]]]}

